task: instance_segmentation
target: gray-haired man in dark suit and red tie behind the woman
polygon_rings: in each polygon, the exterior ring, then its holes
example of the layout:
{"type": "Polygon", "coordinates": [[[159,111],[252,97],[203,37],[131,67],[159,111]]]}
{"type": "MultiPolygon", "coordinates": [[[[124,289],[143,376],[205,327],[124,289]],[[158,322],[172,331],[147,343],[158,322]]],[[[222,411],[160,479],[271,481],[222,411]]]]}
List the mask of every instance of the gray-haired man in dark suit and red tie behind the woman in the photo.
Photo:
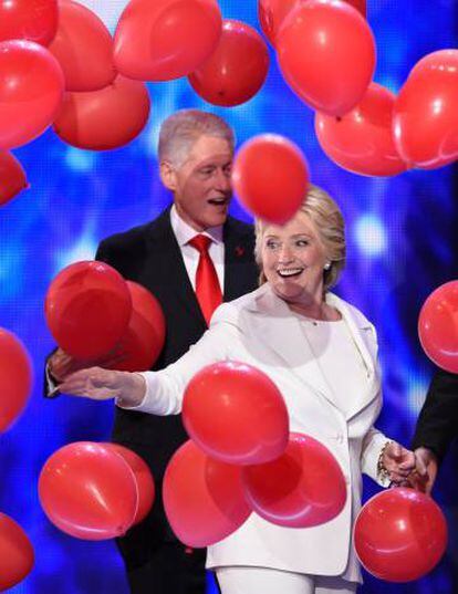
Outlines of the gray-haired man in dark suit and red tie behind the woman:
{"type": "MultiPolygon", "coordinates": [[[[228,217],[233,144],[230,127],[212,114],[184,110],[168,117],[160,129],[158,159],[174,205],[154,221],[110,237],[98,247],[96,260],[143,284],[160,302],[167,334],[154,369],[174,363],[200,338],[221,299],[230,301],[257,285],[252,227],[228,217]],[[194,246],[195,236],[207,238],[204,252],[194,246]]],[[[58,383],[77,367],[60,350],[48,362],[58,383]]],[[[177,541],[160,497],[166,465],[186,439],[179,416],[116,408],[113,440],[148,462],[157,486],[152,513],[118,541],[134,594],[206,590],[205,551],[177,541]]]]}

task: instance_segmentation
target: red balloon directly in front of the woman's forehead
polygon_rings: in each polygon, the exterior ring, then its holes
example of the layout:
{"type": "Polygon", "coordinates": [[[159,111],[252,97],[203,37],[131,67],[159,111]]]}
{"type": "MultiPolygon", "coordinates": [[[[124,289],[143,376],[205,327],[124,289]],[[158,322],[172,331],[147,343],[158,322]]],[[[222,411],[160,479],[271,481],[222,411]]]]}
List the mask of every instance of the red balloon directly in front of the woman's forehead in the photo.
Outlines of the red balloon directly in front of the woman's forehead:
{"type": "Polygon", "coordinates": [[[294,143],[278,134],[262,134],[239,149],[232,184],[239,200],[256,217],[284,225],[305,198],[309,166],[294,143]]]}

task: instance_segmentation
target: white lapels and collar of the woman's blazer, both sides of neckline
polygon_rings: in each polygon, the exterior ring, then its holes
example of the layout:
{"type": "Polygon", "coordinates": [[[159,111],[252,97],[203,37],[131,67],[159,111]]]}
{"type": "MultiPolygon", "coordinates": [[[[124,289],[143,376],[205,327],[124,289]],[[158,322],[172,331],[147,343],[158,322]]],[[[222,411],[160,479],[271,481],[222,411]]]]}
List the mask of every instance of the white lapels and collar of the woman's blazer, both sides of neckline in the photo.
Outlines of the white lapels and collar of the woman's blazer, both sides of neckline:
{"type": "MultiPolygon", "coordinates": [[[[326,398],[333,406],[331,387],[312,352],[311,345],[303,333],[299,320],[292,315],[288,304],[275,295],[268,283],[254,292],[249,309],[259,314],[257,335],[285,362],[288,367],[310,388],[326,398]]],[[[326,302],[336,308],[352,335],[353,341],[367,369],[367,382],[361,387],[361,398],[348,409],[346,418],[367,406],[378,392],[375,365],[375,336],[373,326],[364,316],[356,316],[351,306],[333,293],[326,293],[326,302]],[[374,354],[371,354],[366,341],[373,341],[374,354]]]]}

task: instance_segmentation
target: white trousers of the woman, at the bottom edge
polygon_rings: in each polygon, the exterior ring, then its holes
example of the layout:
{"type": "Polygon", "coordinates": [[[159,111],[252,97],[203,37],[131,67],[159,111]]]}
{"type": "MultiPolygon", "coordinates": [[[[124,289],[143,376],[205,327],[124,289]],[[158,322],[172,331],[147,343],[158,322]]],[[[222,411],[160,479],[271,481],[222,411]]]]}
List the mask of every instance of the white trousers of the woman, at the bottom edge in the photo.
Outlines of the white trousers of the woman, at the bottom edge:
{"type": "Polygon", "coordinates": [[[358,584],[339,576],[305,575],[269,567],[216,567],[222,594],[354,594],[358,584]]]}

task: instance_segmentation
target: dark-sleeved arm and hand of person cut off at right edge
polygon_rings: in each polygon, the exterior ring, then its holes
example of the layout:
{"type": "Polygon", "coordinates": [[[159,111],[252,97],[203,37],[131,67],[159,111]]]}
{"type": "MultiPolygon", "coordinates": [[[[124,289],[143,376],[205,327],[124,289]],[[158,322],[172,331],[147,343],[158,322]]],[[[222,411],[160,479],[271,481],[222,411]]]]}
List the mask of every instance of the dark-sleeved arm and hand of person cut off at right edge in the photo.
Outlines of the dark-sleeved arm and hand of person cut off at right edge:
{"type": "Polygon", "coordinates": [[[458,436],[458,375],[437,369],[420,410],[413,449],[424,489],[430,492],[437,469],[458,436]]]}

